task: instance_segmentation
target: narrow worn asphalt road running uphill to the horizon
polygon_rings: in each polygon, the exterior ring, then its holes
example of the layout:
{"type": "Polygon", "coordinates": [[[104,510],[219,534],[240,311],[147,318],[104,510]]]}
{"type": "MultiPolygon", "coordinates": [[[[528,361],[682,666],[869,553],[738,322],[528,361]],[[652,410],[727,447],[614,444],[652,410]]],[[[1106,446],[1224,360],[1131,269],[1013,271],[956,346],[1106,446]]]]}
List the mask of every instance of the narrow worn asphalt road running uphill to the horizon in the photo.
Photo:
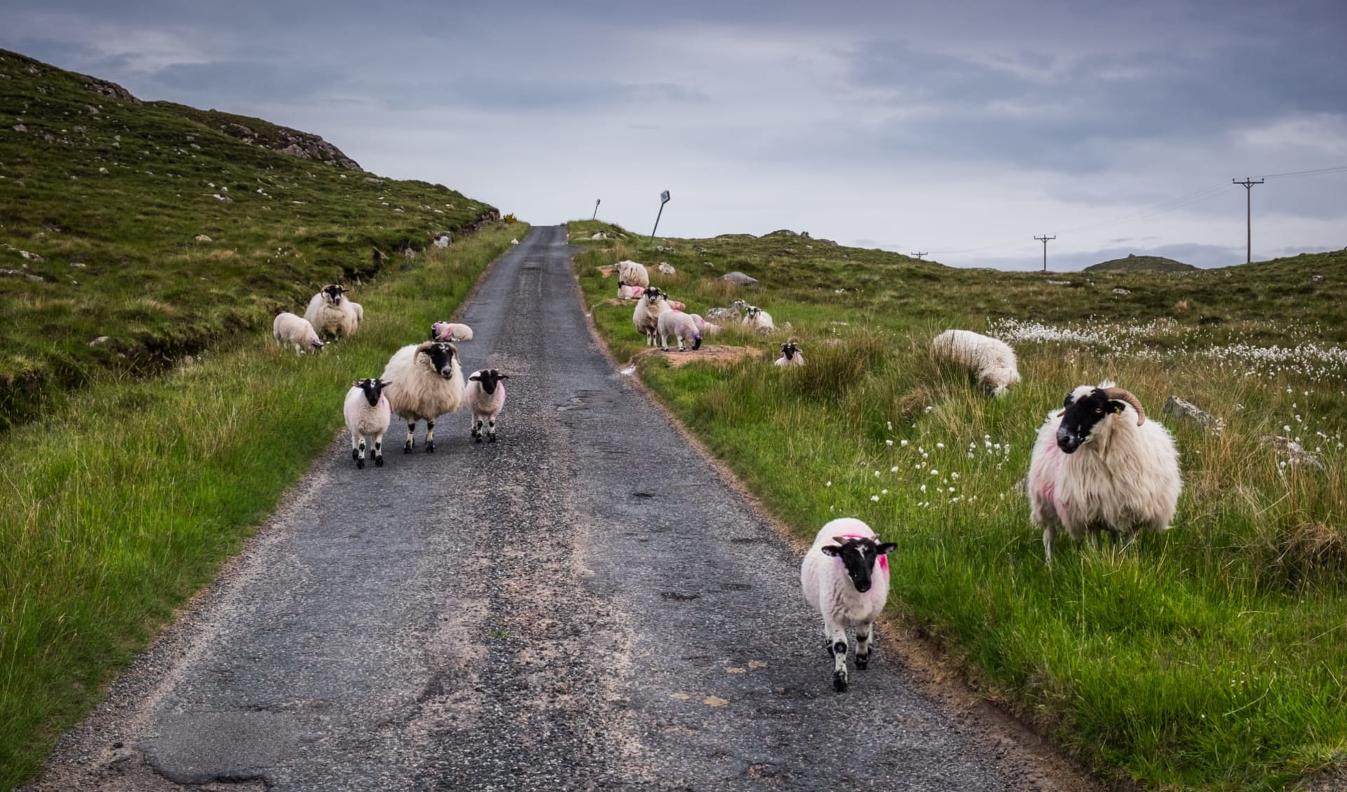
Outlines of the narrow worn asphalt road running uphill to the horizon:
{"type": "Polygon", "coordinates": [[[593,342],[564,228],[463,321],[501,440],[459,414],[435,454],[334,450],[34,788],[1055,788],[882,632],[832,692],[799,559],[593,342]]]}

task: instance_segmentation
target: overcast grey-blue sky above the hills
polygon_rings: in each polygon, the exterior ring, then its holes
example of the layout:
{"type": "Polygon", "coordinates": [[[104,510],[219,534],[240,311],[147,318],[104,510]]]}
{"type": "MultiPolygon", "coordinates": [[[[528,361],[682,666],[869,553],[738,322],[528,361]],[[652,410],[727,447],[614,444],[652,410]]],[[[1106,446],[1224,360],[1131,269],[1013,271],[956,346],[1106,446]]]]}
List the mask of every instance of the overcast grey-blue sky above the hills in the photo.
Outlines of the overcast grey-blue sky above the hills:
{"type": "Polygon", "coordinates": [[[1347,246],[1347,3],[4,0],[0,46],[535,224],[963,267],[1347,246]]]}

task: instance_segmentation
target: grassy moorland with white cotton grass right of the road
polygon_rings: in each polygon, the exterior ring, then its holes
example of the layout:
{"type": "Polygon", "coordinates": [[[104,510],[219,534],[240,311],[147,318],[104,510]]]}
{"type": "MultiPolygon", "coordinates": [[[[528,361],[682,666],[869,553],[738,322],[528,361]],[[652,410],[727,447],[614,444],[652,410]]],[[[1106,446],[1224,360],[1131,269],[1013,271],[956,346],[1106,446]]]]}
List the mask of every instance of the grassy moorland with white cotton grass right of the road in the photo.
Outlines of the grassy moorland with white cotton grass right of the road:
{"type": "Polygon", "coordinates": [[[672,248],[657,252],[613,226],[571,229],[617,237],[582,242],[577,269],[618,358],[644,339],[630,303],[605,302],[616,280],[595,267],[617,259],[674,264],[652,282],[690,311],[745,296],[792,323],[710,338],[762,348],[757,365],[653,356],[638,370],[801,537],[857,516],[898,543],[893,613],[1096,776],[1281,789],[1347,768],[1347,252],[1045,279],[787,234],[656,240],[672,248]],[[714,280],[730,269],[762,288],[714,280]],[[1020,334],[1024,383],[987,400],[933,364],[929,339],[950,326],[1020,334]],[[787,335],[803,369],[769,364],[787,335]],[[1179,515],[1126,552],[1059,540],[1048,567],[1018,482],[1048,411],[1105,377],[1173,431],[1179,515]],[[1169,395],[1224,432],[1161,415],[1169,395]],[[1300,436],[1327,470],[1282,466],[1269,434],[1300,436]]]}

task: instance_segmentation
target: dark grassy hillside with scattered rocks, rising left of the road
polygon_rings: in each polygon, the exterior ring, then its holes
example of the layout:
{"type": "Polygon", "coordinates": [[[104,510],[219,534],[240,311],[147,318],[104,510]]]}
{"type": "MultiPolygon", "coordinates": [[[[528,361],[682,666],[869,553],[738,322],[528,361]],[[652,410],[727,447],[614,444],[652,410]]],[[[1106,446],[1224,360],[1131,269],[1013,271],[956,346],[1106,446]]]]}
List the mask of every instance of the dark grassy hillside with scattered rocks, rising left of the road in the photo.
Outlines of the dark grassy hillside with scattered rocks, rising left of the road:
{"type": "Polygon", "coordinates": [[[93,378],[268,327],[325,283],[358,302],[399,251],[497,216],[259,119],[141,102],[3,50],[0,74],[0,431],[93,378]]]}

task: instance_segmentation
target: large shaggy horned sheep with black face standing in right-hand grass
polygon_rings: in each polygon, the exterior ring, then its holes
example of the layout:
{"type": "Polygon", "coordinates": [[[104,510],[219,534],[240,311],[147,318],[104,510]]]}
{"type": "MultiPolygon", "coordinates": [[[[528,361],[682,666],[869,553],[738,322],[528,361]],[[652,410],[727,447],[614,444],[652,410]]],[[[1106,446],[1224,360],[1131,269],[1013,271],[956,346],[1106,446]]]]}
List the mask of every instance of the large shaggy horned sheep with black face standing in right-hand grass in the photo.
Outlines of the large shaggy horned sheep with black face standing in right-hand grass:
{"type": "Polygon", "coordinates": [[[1080,385],[1039,430],[1028,489],[1048,563],[1059,529],[1078,541],[1088,531],[1095,547],[1102,531],[1121,533],[1126,548],[1138,527],[1169,528],[1183,489],[1179,451],[1136,396],[1110,381],[1080,385]]]}

